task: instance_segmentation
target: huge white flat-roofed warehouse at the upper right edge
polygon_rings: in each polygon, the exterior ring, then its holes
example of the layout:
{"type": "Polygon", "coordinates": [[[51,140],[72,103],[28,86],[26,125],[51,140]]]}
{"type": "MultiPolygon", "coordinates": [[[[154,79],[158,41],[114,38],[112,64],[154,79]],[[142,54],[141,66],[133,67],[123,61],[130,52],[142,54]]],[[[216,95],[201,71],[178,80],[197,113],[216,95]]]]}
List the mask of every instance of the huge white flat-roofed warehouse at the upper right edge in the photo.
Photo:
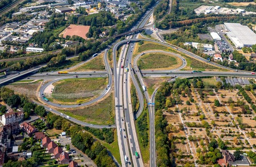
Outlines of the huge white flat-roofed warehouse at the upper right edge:
{"type": "Polygon", "coordinates": [[[256,44],[256,34],[247,26],[239,23],[224,23],[229,39],[237,48],[252,47],[256,44]]]}

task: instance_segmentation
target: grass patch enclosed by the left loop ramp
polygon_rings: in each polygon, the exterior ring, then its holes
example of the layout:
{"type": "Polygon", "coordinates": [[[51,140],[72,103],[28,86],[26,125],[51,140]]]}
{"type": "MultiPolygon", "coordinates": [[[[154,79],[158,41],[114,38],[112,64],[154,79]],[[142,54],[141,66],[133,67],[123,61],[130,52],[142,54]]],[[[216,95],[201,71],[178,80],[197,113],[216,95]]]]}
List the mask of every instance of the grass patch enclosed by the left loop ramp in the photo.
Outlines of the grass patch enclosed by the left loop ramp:
{"type": "Polygon", "coordinates": [[[84,103],[99,95],[107,85],[107,78],[72,78],[53,83],[55,88],[47,98],[60,103],[84,103]]]}

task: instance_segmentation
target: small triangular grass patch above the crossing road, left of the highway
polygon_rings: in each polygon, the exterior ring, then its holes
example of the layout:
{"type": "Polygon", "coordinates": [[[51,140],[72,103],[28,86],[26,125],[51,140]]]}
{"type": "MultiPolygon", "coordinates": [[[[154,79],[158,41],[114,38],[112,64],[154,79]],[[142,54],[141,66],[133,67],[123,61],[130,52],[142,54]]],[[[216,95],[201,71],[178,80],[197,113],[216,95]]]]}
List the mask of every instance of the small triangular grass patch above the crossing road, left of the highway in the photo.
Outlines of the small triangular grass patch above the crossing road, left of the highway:
{"type": "Polygon", "coordinates": [[[80,65],[77,68],[71,69],[70,72],[82,72],[88,70],[105,70],[103,54],[98,55],[94,59],[90,60],[85,64],[80,65]]]}

